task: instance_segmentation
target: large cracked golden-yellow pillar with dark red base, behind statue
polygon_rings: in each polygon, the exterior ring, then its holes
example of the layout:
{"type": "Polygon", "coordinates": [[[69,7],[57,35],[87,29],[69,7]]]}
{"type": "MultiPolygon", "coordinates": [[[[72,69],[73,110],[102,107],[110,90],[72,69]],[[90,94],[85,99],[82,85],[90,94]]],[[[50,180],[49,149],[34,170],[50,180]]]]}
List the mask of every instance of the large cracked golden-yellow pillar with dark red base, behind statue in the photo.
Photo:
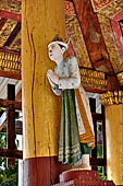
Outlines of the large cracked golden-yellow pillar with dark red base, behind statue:
{"type": "Polygon", "coordinates": [[[53,68],[47,45],[64,38],[63,0],[23,0],[22,82],[24,186],[49,186],[60,173],[57,162],[61,98],[51,91],[47,70],[53,68]]]}

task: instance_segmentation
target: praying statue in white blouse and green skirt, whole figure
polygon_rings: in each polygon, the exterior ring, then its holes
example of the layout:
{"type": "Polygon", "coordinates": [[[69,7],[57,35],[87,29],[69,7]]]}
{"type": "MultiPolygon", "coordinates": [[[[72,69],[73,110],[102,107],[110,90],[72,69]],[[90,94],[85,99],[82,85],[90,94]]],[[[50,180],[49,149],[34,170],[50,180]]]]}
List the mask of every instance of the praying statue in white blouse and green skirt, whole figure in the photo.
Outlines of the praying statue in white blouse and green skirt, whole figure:
{"type": "Polygon", "coordinates": [[[76,166],[82,160],[83,167],[90,170],[89,152],[95,146],[93,119],[76,58],[64,59],[67,47],[59,37],[48,45],[49,58],[57,67],[47,71],[47,78],[53,93],[62,96],[58,160],[76,166]]]}

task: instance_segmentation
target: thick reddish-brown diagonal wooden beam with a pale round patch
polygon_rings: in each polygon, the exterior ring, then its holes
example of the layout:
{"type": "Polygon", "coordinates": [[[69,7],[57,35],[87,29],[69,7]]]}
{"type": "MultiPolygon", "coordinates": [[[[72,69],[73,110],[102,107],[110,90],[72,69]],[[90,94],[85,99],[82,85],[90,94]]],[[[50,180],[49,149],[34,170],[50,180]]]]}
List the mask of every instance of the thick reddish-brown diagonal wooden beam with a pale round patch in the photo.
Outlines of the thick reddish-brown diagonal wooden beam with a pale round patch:
{"type": "Polygon", "coordinates": [[[99,21],[89,0],[74,0],[85,44],[93,68],[113,74],[99,21]]]}

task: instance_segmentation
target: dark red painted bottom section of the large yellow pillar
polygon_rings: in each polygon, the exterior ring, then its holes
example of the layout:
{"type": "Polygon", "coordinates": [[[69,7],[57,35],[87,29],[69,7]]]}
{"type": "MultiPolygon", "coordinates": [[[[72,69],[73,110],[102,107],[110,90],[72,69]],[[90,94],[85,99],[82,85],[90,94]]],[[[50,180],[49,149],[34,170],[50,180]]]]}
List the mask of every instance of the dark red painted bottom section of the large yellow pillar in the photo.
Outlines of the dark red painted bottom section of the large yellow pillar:
{"type": "Polygon", "coordinates": [[[69,165],[58,162],[57,156],[33,158],[24,161],[24,186],[51,186],[59,183],[59,175],[69,165]]]}

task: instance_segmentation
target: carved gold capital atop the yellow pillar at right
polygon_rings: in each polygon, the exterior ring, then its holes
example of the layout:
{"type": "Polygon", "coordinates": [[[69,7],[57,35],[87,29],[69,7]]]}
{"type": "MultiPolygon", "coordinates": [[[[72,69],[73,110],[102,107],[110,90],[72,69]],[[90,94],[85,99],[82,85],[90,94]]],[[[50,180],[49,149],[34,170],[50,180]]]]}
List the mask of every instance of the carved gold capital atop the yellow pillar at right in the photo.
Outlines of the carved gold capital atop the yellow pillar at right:
{"type": "Polygon", "coordinates": [[[100,94],[100,100],[104,106],[123,104],[123,91],[108,91],[100,94]]]}

